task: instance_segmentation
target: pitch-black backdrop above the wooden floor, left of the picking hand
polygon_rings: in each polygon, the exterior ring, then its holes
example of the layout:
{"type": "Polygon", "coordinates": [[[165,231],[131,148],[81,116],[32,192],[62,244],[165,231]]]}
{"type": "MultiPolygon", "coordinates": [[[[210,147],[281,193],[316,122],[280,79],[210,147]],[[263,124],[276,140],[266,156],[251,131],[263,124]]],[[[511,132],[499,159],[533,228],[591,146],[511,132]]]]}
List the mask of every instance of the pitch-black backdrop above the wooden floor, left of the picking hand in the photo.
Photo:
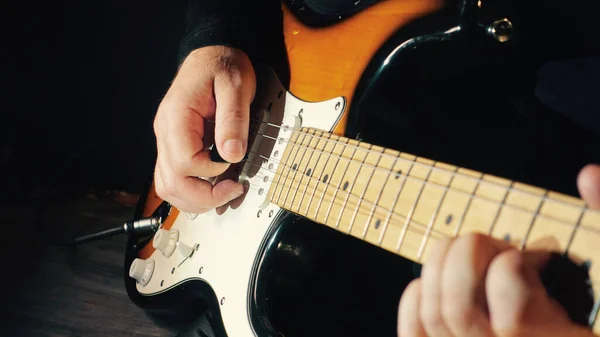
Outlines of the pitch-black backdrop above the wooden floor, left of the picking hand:
{"type": "Polygon", "coordinates": [[[2,10],[3,199],[59,185],[140,189],[156,155],[152,120],[177,69],[184,5],[36,0],[2,10]]]}

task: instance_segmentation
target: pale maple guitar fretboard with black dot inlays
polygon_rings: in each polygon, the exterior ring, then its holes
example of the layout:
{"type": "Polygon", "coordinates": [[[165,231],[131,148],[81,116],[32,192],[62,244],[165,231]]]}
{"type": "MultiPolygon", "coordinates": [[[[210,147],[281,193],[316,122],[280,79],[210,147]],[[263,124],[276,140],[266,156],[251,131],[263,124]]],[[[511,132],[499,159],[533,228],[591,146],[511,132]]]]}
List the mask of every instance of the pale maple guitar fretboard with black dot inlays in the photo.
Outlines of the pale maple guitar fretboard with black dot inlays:
{"type": "Polygon", "coordinates": [[[568,250],[600,299],[600,212],[580,199],[314,129],[295,132],[280,163],[269,197],[289,211],[416,262],[472,232],[568,250]]]}

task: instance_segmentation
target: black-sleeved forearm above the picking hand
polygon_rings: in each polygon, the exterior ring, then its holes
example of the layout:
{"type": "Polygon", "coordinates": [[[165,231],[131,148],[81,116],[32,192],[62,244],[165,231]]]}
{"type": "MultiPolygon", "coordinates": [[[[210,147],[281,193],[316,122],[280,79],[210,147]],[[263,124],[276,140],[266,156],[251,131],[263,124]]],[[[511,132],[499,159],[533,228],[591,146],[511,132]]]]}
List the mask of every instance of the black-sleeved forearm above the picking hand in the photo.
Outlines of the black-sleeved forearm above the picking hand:
{"type": "Polygon", "coordinates": [[[264,61],[282,34],[278,0],[189,0],[179,59],[200,47],[225,45],[264,61]]]}

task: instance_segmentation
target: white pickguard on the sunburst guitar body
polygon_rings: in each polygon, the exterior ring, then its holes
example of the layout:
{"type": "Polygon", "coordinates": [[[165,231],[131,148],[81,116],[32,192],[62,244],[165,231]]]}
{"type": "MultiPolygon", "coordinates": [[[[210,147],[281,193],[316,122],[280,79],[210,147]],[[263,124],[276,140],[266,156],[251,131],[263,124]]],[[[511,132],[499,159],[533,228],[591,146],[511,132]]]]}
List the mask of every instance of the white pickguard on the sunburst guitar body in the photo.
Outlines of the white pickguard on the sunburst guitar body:
{"type": "MultiPolygon", "coordinates": [[[[266,81],[259,83],[262,87],[259,90],[263,90],[263,94],[260,95],[261,102],[258,106],[267,110],[271,105],[270,113],[266,115],[270,121],[282,121],[278,125],[331,131],[345,110],[346,101],[342,97],[318,103],[304,102],[288,93],[272,71],[266,71],[265,75],[266,81]],[[298,118],[299,112],[301,118],[298,118]]],[[[272,151],[261,153],[261,156],[251,153],[244,171],[257,168],[251,162],[262,167],[259,174],[246,177],[251,189],[242,204],[237,209],[228,209],[223,215],[217,215],[214,210],[197,216],[180,214],[172,229],[179,231],[180,243],[189,247],[199,245],[198,250],[185,261],[177,249],[168,258],[156,250],[150,257],[155,262],[150,281],[145,286],[137,284],[140,294],[151,296],[169,291],[188,280],[203,280],[212,287],[220,302],[223,323],[229,337],[256,336],[249,318],[251,277],[261,244],[281,211],[278,206],[269,203],[266,197],[272,183],[270,178],[277,170],[291,130],[284,127],[270,129],[272,135],[278,139],[283,138],[284,141],[275,142],[272,151]],[[263,157],[272,160],[267,161],[263,157]],[[267,181],[264,179],[265,175],[269,177],[267,181]],[[259,195],[261,189],[262,195],[259,195]]],[[[260,148],[259,151],[264,151],[265,147],[260,148]]]]}

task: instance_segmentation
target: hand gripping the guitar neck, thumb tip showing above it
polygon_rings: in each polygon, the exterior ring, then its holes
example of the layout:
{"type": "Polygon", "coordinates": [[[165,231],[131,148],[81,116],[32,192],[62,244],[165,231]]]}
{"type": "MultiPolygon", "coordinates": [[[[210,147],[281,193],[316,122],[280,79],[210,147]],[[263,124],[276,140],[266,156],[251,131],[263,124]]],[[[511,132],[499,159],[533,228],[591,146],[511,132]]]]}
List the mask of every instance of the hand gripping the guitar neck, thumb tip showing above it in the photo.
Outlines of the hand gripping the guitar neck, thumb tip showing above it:
{"type": "MultiPolygon", "coordinates": [[[[586,166],[577,184],[600,208],[600,166],[586,166]]],[[[546,293],[538,275],[549,257],[484,235],[438,241],[402,295],[398,336],[594,337],[546,293]]]]}

